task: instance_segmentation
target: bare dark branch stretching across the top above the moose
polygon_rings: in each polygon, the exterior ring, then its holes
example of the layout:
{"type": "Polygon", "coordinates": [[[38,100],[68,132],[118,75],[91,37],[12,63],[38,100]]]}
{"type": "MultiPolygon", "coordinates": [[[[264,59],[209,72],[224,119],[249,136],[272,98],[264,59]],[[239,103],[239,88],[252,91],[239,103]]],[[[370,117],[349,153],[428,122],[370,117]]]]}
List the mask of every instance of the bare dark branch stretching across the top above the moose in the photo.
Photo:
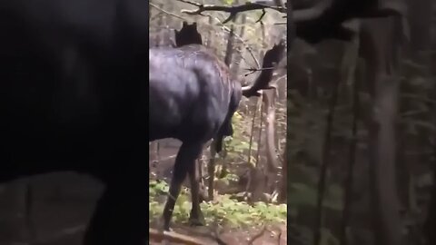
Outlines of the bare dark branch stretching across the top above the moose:
{"type": "Polygon", "coordinates": [[[280,13],[286,14],[286,7],[282,7],[282,6],[274,6],[274,5],[263,5],[263,4],[254,4],[254,3],[245,3],[243,5],[234,5],[234,6],[222,6],[222,5],[202,5],[199,3],[195,3],[192,1],[188,1],[188,0],[178,0],[179,2],[188,4],[188,5],[194,5],[196,7],[198,7],[198,9],[196,10],[186,10],[183,9],[182,13],[187,14],[187,15],[203,15],[203,12],[205,11],[221,11],[221,12],[227,12],[229,13],[229,17],[227,17],[227,19],[225,19],[223,21],[223,24],[233,20],[237,14],[242,13],[242,12],[246,12],[246,11],[252,11],[252,10],[262,10],[263,14],[261,15],[261,17],[259,18],[258,21],[256,22],[260,22],[261,19],[263,18],[263,15],[265,15],[265,8],[270,8],[273,9],[275,11],[278,11],[280,13]]]}

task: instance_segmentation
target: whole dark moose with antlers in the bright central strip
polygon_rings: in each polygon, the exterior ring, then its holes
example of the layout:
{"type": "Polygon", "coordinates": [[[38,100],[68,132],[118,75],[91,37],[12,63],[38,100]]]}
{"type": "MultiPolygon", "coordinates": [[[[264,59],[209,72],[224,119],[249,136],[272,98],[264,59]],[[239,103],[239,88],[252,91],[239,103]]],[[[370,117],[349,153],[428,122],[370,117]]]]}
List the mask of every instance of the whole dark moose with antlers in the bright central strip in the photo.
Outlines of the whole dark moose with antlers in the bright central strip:
{"type": "Polygon", "coordinates": [[[201,44],[195,27],[183,23],[182,30],[175,31],[177,48],[150,49],[149,141],[174,138],[182,142],[163,209],[165,230],[170,228],[173,207],[186,175],[193,203],[190,223],[203,225],[195,161],[204,144],[212,139],[216,152],[221,152],[223,137],[233,135],[232,116],[242,96],[258,96],[259,91],[271,88],[271,68],[282,59],[285,49],[282,41],[267,51],[262,73],[253,85],[242,87],[229,67],[201,44]]]}

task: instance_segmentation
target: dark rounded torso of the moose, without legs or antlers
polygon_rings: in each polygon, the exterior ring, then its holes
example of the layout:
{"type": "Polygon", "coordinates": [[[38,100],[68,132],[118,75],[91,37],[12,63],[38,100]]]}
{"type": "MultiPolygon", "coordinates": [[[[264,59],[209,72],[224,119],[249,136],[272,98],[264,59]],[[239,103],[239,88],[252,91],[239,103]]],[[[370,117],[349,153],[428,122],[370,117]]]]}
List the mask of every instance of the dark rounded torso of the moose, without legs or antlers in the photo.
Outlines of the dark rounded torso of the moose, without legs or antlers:
{"type": "Polygon", "coordinates": [[[228,67],[196,44],[150,49],[149,62],[150,141],[207,141],[215,136],[233,93],[241,93],[228,67]]]}

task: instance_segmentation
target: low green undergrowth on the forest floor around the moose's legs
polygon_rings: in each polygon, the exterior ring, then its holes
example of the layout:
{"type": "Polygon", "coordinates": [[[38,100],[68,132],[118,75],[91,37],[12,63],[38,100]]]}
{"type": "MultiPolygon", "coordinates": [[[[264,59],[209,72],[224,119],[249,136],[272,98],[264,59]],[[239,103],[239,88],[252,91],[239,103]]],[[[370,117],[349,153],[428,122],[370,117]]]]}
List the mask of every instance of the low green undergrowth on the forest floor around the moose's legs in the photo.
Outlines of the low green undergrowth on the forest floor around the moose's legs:
{"type": "MultiPolygon", "coordinates": [[[[149,208],[150,221],[162,216],[165,194],[168,185],[164,181],[150,181],[149,208]]],[[[252,205],[245,201],[235,201],[230,195],[219,195],[214,201],[201,203],[206,225],[219,224],[229,228],[256,227],[269,223],[286,221],[286,204],[276,205],[255,202],[252,205]]],[[[186,223],[191,211],[189,190],[183,188],[173,211],[173,221],[186,223]]]]}

